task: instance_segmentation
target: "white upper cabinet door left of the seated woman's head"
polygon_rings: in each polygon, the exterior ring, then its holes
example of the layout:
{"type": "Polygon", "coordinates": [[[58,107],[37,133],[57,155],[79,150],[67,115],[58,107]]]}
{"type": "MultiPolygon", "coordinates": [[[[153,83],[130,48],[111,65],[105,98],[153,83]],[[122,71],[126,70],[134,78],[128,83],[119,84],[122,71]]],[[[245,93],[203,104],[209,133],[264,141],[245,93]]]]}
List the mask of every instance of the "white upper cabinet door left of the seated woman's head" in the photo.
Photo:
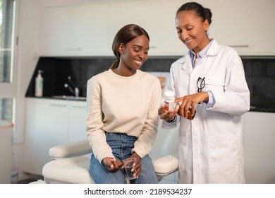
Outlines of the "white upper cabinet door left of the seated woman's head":
{"type": "Polygon", "coordinates": [[[106,4],[42,8],[41,56],[110,55],[107,8],[106,4]]]}

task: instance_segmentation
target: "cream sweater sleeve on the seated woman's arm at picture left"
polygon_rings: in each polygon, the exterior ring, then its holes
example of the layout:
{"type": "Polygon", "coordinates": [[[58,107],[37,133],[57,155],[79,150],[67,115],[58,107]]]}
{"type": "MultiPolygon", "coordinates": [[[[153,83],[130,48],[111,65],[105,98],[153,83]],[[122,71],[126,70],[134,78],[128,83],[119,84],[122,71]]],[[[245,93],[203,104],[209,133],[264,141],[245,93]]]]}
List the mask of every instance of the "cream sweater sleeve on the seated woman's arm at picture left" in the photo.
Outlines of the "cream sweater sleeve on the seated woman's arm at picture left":
{"type": "Polygon", "coordinates": [[[102,130],[102,92],[97,81],[91,78],[87,82],[87,139],[92,147],[95,158],[102,162],[103,158],[114,158],[111,147],[106,143],[106,135],[102,130]]]}

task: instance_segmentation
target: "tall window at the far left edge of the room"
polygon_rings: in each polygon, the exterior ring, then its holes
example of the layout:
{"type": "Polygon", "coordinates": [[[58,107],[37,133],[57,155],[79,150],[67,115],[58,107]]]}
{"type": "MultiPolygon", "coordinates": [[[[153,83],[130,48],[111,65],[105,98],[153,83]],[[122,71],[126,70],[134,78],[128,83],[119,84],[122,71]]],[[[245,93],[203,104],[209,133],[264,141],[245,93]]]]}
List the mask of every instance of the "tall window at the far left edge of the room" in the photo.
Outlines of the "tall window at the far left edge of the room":
{"type": "Polygon", "coordinates": [[[0,120],[14,123],[16,86],[13,82],[15,0],[0,0],[0,120]]]}

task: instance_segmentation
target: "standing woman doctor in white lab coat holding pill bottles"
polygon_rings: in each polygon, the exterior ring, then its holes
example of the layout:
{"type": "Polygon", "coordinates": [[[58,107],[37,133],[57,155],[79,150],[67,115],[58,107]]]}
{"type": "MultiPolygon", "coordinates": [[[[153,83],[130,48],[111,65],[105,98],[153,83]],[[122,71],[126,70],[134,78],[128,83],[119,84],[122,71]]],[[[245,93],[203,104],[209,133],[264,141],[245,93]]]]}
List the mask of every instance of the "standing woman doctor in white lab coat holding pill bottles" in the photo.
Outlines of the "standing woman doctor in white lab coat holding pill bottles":
{"type": "Polygon", "coordinates": [[[245,183],[241,115],[250,109],[250,91],[237,52],[207,36],[211,18],[195,2],[178,9],[178,38],[189,52],[171,65],[166,90],[179,105],[158,113],[164,128],[181,124],[180,183],[245,183]]]}

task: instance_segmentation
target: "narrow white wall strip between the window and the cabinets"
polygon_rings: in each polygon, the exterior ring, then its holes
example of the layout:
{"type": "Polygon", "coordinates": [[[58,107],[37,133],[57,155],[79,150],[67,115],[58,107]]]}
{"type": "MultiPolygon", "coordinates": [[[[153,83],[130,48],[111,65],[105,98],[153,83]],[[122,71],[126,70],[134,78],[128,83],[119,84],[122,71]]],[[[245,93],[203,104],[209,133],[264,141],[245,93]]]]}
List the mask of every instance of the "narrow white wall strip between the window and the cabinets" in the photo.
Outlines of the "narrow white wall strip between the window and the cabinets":
{"type": "Polygon", "coordinates": [[[18,95],[16,105],[16,132],[13,146],[19,170],[19,179],[23,179],[23,134],[25,123],[25,92],[39,57],[39,15],[40,2],[37,0],[17,1],[18,11],[18,95]]]}

